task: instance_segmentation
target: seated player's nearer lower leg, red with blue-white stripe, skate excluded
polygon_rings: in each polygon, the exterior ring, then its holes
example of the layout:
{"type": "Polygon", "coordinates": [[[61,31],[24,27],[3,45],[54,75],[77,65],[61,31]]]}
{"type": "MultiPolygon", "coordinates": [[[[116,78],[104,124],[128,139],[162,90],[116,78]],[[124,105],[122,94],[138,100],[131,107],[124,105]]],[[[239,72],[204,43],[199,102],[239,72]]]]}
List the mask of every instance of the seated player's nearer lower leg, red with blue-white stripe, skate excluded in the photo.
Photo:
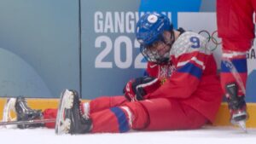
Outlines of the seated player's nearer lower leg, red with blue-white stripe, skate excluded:
{"type": "Polygon", "coordinates": [[[148,112],[138,101],[127,102],[124,106],[111,107],[90,115],[92,133],[126,132],[142,130],[148,125],[148,112]]]}

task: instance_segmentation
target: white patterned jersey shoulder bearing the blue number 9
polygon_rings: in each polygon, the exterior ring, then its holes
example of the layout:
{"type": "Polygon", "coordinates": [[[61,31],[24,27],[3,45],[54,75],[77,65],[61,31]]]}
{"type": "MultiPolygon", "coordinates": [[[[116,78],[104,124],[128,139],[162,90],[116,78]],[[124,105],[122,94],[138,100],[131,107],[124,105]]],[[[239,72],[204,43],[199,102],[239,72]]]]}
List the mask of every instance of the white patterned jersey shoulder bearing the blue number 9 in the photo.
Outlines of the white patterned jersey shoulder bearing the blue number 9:
{"type": "Polygon", "coordinates": [[[207,55],[207,39],[196,32],[183,32],[172,45],[171,55],[178,57],[186,53],[201,51],[207,55]]]}

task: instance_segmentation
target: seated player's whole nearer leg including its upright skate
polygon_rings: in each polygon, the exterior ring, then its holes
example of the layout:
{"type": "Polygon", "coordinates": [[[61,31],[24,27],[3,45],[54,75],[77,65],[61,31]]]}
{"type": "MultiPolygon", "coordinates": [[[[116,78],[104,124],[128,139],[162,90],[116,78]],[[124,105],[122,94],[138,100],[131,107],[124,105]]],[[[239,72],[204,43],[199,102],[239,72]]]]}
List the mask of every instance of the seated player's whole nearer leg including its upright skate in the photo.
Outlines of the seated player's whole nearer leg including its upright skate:
{"type": "Polygon", "coordinates": [[[126,102],[84,116],[79,96],[73,91],[61,97],[61,107],[56,121],[56,133],[125,132],[134,130],[197,129],[207,123],[207,118],[194,109],[165,98],[126,102]]]}

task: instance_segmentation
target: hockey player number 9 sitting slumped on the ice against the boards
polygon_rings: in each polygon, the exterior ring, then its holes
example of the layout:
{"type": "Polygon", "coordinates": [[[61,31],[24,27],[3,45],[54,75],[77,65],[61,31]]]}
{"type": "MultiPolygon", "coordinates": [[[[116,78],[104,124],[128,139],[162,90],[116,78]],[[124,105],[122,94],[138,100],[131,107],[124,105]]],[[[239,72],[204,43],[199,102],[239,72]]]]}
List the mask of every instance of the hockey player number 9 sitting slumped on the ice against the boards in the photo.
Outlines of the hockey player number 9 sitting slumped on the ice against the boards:
{"type": "Polygon", "coordinates": [[[144,14],[137,22],[137,41],[148,60],[147,76],[131,79],[124,95],[79,101],[74,90],[61,95],[57,134],[126,132],[128,130],[191,130],[212,123],[222,100],[213,55],[207,39],[174,30],[164,14],[144,14]]]}

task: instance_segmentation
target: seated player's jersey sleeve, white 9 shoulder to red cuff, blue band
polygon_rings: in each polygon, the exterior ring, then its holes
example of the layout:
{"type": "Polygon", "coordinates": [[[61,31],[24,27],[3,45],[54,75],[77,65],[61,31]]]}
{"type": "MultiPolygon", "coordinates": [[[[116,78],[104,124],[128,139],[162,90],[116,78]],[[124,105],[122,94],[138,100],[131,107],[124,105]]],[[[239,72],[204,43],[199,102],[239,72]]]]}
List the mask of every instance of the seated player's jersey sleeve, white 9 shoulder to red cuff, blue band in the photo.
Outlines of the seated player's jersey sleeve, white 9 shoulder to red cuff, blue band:
{"type": "Polygon", "coordinates": [[[211,55],[211,52],[206,49],[204,38],[197,35],[183,37],[171,52],[176,70],[165,84],[161,85],[154,93],[147,95],[148,98],[188,98],[201,82],[201,77],[206,69],[207,57],[211,55]],[[191,37],[195,39],[191,39],[191,37]]]}

